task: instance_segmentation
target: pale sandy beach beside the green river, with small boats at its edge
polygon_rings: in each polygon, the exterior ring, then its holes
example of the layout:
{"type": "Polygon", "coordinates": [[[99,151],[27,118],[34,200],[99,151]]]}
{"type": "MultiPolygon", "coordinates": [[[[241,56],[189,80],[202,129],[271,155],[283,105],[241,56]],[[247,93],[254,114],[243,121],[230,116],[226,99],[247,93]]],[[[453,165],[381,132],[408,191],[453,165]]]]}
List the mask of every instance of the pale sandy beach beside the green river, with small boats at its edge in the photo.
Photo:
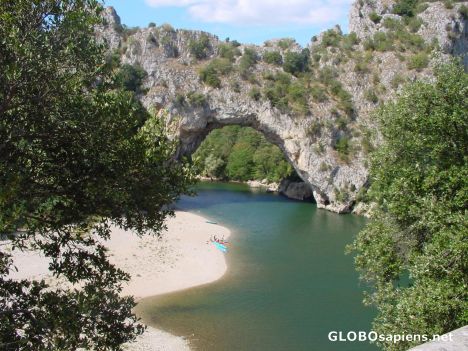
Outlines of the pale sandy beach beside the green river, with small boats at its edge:
{"type": "MultiPolygon", "coordinates": [[[[193,213],[177,211],[167,220],[161,238],[138,237],[113,228],[106,242],[112,263],[131,275],[124,295],[141,299],[213,282],[227,270],[224,254],[209,243],[212,235],[229,237],[228,229],[206,222],[193,213]]],[[[48,260],[37,252],[14,252],[16,279],[45,279],[54,284],[47,269],[48,260]]],[[[162,330],[148,327],[136,342],[125,345],[129,351],[189,350],[187,341],[162,330]]]]}

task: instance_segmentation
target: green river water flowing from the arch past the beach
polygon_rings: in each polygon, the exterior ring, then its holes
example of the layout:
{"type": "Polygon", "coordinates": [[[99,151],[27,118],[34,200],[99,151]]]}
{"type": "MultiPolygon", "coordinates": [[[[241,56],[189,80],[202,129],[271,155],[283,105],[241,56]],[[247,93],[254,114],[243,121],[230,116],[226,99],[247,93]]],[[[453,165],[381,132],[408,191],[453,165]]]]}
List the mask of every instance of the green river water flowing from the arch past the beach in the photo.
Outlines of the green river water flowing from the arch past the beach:
{"type": "Polygon", "coordinates": [[[240,184],[201,184],[179,207],[231,229],[229,270],[212,284],[142,300],[145,323],[187,337],[195,350],[376,350],[327,338],[370,330],[373,311],[344,254],[364,218],[240,184]]]}

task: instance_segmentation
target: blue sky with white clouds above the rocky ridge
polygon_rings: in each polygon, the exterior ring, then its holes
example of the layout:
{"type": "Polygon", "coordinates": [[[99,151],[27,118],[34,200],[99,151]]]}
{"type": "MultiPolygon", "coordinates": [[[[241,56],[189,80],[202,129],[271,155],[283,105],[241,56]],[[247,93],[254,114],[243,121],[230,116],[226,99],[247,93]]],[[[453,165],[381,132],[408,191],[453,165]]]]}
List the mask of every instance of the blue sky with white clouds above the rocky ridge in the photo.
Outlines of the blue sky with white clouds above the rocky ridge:
{"type": "Polygon", "coordinates": [[[294,38],[305,46],[312,36],[339,24],[348,27],[353,0],[104,0],[129,27],[170,23],[200,29],[242,43],[294,38]]]}

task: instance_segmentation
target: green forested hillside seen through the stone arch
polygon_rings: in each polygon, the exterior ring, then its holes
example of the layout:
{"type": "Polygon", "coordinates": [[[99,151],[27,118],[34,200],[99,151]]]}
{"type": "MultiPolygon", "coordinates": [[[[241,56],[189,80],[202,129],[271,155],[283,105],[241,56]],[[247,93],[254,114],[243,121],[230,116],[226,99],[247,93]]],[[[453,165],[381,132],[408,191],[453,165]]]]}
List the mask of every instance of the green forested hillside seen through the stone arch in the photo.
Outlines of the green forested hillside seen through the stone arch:
{"type": "Polygon", "coordinates": [[[278,182],[294,172],[276,145],[248,127],[212,131],[193,158],[200,175],[225,180],[278,182]]]}

